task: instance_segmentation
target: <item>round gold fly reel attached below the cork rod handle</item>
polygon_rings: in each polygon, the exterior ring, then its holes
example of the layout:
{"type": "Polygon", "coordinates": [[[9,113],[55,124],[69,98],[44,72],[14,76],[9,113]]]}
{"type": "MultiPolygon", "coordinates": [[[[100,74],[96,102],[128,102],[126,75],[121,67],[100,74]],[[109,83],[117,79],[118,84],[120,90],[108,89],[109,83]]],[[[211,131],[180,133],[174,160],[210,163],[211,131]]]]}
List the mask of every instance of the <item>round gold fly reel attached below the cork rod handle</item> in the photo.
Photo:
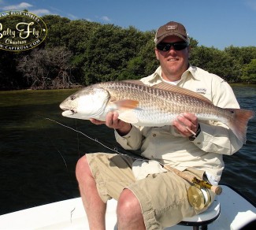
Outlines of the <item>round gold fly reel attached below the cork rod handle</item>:
{"type": "Polygon", "coordinates": [[[196,187],[192,185],[187,190],[188,202],[191,206],[195,207],[195,210],[202,210],[210,205],[211,196],[208,189],[204,187],[196,187]]]}

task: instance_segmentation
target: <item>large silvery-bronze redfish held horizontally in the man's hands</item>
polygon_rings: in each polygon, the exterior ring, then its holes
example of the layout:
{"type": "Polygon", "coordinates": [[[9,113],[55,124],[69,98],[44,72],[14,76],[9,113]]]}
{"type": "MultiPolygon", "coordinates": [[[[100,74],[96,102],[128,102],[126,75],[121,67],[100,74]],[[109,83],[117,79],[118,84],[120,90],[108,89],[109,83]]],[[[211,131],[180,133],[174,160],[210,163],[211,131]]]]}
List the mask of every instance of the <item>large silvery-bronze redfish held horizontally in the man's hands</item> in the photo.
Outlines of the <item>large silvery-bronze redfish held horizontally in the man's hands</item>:
{"type": "Polygon", "coordinates": [[[246,142],[247,123],[254,117],[249,109],[222,109],[193,91],[159,83],[153,87],[139,80],[96,83],[84,87],[61,102],[62,115],[105,121],[117,111],[119,119],[139,126],[172,125],[182,113],[194,113],[198,121],[220,121],[246,142]]]}

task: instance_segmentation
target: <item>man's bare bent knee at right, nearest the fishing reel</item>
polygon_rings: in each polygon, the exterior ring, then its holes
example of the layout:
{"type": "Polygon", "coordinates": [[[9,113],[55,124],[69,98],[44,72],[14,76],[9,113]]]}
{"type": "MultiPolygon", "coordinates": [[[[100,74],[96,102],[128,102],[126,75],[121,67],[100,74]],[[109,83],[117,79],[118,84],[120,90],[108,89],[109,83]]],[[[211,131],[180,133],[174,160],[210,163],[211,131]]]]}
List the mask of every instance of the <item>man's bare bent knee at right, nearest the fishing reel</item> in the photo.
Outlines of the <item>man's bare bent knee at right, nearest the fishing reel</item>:
{"type": "Polygon", "coordinates": [[[132,191],[124,189],[117,202],[118,229],[143,230],[145,224],[138,199],[132,191]]]}

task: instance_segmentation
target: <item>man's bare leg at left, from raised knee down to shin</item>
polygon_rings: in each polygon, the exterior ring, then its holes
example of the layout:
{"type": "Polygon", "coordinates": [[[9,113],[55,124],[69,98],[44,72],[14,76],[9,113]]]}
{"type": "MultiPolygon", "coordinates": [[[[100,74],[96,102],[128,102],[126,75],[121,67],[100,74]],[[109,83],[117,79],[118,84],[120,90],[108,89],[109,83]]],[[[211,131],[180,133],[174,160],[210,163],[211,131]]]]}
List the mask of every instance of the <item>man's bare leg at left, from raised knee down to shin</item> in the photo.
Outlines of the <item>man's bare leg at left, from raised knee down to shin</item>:
{"type": "Polygon", "coordinates": [[[95,179],[91,174],[86,156],[77,161],[76,179],[79,184],[80,195],[87,213],[90,229],[105,229],[106,203],[102,202],[98,195],[95,179]]]}

